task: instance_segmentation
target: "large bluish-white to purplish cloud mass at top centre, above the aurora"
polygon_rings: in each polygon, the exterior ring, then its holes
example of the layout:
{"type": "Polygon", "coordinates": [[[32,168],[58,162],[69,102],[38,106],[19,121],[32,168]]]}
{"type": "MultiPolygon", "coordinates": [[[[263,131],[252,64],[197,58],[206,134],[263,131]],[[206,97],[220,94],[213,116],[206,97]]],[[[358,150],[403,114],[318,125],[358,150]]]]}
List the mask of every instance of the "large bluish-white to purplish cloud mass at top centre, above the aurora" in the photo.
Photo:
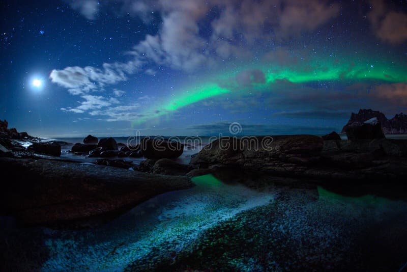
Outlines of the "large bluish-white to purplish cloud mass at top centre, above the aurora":
{"type": "Polygon", "coordinates": [[[158,33],[146,35],[131,54],[187,72],[212,67],[220,60],[249,59],[259,44],[288,41],[339,14],[336,3],[321,0],[174,0],[159,1],[157,9],[162,16],[158,33]],[[211,9],[219,10],[219,17],[207,16],[211,9]],[[201,35],[200,23],[206,20],[212,31],[209,37],[201,35]]]}

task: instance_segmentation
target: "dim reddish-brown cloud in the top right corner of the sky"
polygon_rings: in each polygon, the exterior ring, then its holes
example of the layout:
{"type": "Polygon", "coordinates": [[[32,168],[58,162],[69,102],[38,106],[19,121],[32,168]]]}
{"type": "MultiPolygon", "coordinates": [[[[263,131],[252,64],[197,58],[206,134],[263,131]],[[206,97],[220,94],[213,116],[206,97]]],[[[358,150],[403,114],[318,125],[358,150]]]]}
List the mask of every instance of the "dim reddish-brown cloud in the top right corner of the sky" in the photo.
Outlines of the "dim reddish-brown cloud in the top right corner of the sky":
{"type": "Polygon", "coordinates": [[[383,0],[370,0],[368,13],[374,34],[383,42],[400,44],[407,40],[407,14],[392,10],[383,0]]]}

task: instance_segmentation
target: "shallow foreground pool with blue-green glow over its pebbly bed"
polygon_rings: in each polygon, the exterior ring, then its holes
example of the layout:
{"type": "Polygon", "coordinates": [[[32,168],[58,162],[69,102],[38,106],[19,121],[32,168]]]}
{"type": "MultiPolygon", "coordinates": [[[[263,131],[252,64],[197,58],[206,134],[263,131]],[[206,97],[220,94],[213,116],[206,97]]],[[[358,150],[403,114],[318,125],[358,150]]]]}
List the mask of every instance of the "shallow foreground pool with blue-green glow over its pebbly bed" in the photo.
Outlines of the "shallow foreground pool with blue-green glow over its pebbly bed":
{"type": "Polygon", "coordinates": [[[8,267],[44,271],[397,270],[407,261],[402,198],[311,184],[251,189],[212,175],[193,181],[97,228],[5,229],[1,250],[8,267]]]}

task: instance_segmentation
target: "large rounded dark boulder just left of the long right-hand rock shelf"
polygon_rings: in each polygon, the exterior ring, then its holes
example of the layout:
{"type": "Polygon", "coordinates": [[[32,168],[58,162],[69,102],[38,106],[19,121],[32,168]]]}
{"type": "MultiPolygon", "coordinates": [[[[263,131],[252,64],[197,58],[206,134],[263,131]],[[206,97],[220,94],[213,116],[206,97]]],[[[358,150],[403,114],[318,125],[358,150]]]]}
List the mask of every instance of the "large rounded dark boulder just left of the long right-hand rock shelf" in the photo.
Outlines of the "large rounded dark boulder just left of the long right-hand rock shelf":
{"type": "Polygon", "coordinates": [[[144,138],[141,140],[141,154],[146,158],[178,158],[184,152],[184,145],[177,141],[144,138]]]}

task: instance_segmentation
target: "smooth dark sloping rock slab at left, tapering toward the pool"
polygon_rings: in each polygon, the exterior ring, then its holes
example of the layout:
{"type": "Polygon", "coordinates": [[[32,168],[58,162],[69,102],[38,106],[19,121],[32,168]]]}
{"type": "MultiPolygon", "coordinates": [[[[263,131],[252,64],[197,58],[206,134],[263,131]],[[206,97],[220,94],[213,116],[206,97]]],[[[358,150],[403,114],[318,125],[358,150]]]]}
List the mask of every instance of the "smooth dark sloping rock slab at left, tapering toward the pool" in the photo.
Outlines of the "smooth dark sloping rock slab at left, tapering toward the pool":
{"type": "Polygon", "coordinates": [[[121,213],[156,195],[186,189],[188,177],[146,174],[47,159],[0,158],[1,213],[25,225],[121,213]]]}

